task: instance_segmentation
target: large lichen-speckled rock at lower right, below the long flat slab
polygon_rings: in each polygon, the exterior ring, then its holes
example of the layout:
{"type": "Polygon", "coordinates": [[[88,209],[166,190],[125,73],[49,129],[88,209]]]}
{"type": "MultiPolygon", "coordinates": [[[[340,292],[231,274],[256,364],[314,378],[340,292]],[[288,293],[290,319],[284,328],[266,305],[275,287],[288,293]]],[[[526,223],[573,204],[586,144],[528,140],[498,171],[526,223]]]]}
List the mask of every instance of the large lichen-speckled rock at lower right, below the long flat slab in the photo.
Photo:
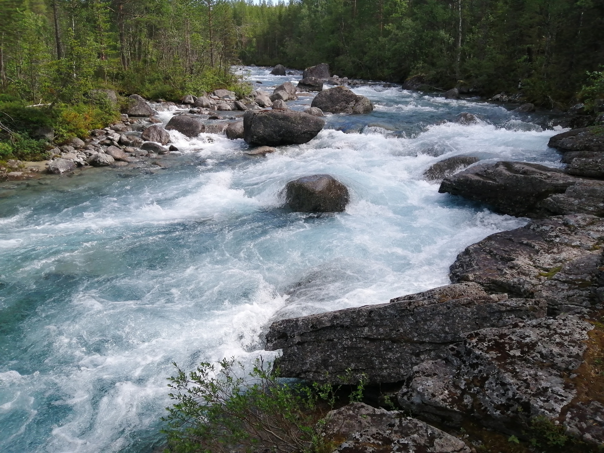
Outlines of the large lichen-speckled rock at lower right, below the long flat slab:
{"type": "Polygon", "coordinates": [[[556,418],[576,396],[567,378],[582,364],[591,329],[561,315],[468,333],[445,358],[413,368],[399,404],[431,422],[472,417],[520,435],[533,417],[556,418]]]}

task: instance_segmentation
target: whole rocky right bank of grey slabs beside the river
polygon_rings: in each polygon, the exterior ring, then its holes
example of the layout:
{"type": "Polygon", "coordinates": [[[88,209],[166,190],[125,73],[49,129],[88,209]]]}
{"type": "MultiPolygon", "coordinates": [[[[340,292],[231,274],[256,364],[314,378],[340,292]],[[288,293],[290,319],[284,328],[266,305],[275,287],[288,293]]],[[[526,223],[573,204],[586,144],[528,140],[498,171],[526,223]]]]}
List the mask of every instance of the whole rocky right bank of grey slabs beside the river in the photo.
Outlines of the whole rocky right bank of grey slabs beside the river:
{"type": "MultiPolygon", "coordinates": [[[[451,284],[272,323],[266,349],[282,350],[282,376],[395,389],[400,411],[339,410],[338,423],[350,426],[336,451],[417,442],[435,429],[426,423],[455,430],[472,422],[528,440],[538,417],[585,451],[604,444],[604,132],[570,130],[549,146],[566,169],[456,156],[426,170],[441,193],[530,219],[467,247],[451,265],[451,284]]],[[[474,448],[443,439],[446,446],[402,451],[474,448]]]]}

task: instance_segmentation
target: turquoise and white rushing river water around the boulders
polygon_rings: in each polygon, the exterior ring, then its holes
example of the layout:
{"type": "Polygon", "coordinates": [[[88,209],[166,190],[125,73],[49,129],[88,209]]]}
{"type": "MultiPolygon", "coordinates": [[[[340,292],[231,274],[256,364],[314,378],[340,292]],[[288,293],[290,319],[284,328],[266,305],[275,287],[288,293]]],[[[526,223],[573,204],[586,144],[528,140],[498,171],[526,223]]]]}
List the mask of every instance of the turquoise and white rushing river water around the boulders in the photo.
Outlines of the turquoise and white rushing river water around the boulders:
{"type": "MultiPolygon", "coordinates": [[[[270,92],[300,79],[246,72],[270,92]]],[[[271,358],[262,338],[273,320],[447,284],[467,245],[524,225],[439,194],[422,180],[430,164],[560,165],[542,116],[382,85],[355,91],[376,104],[371,114],[329,115],[310,143],[266,157],[224,135],[172,132],[186,165],[0,185],[0,451],[151,451],[173,361],[271,358]],[[443,121],[460,112],[484,121],[443,121]],[[349,187],[344,213],[282,207],[286,182],[313,173],[349,187]]]]}

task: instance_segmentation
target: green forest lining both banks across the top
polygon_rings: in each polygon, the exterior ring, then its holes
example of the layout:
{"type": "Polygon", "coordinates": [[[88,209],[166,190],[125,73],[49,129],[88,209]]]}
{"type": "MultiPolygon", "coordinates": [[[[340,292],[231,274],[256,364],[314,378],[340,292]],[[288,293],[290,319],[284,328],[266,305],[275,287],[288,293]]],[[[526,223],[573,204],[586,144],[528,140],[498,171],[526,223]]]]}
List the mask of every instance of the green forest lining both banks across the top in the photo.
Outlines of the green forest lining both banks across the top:
{"type": "Polygon", "coordinates": [[[521,92],[602,109],[604,0],[2,0],[0,159],[118,114],[99,89],[178,100],[246,85],[236,64],[521,92]]]}

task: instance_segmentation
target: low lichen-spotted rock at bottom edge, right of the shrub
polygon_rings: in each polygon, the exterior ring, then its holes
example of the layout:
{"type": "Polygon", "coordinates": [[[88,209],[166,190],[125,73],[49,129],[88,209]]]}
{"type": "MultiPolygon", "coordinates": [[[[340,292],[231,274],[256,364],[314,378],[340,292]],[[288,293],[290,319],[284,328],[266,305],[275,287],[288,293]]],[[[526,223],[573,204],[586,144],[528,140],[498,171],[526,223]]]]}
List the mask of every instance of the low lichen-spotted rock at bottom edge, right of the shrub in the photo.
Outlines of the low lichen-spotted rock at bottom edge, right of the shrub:
{"type": "Polygon", "coordinates": [[[337,439],[334,452],[338,453],[471,453],[462,440],[428,423],[364,403],[327,413],[323,431],[332,442],[337,439]]]}

